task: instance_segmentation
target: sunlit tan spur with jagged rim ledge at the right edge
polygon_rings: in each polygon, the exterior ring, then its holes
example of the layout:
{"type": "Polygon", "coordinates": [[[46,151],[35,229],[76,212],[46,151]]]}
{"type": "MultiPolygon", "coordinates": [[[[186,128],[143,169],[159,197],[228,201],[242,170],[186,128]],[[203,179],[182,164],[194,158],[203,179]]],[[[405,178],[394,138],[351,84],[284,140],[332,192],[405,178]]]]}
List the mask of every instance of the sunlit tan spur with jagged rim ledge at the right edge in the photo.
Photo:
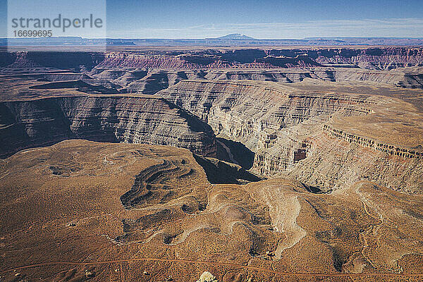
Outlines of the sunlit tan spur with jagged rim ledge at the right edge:
{"type": "Polygon", "coordinates": [[[307,158],[290,175],[336,189],[359,180],[422,192],[423,116],[412,104],[384,97],[364,116],[333,114],[305,139],[307,158]]]}

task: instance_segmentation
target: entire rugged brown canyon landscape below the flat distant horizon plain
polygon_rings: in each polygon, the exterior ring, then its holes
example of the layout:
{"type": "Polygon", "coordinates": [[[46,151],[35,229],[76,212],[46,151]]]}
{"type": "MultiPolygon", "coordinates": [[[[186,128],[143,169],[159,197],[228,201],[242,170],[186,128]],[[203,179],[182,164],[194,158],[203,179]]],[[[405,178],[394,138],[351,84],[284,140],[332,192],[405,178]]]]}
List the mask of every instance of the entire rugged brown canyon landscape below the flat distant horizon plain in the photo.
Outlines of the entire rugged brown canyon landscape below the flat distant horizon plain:
{"type": "Polygon", "coordinates": [[[122,48],[0,53],[1,275],[418,281],[422,48],[122,48]]]}

